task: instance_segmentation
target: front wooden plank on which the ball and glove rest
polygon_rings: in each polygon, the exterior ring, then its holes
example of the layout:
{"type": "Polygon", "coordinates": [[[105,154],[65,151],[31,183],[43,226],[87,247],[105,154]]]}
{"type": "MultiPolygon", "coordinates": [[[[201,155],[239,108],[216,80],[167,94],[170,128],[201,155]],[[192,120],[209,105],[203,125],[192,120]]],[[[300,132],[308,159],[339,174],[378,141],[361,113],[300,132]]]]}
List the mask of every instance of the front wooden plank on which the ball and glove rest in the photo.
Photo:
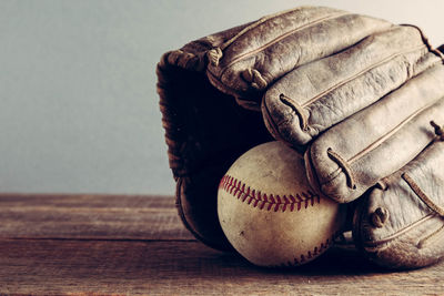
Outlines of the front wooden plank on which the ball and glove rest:
{"type": "Polygon", "coordinates": [[[295,269],[256,268],[198,242],[0,239],[0,294],[444,294],[444,265],[390,273],[333,249],[295,269]]]}

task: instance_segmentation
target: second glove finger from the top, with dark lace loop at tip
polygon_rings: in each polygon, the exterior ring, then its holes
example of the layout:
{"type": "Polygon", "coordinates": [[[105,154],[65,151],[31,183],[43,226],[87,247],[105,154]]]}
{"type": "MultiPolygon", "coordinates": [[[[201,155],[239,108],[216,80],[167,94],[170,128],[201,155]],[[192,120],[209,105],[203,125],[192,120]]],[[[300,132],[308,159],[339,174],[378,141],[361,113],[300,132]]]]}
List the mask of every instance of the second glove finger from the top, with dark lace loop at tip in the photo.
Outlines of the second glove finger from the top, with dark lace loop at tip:
{"type": "Polygon", "coordinates": [[[293,70],[263,98],[268,129],[293,146],[309,143],[441,61],[438,54],[428,53],[424,41],[414,27],[392,27],[293,70]]]}

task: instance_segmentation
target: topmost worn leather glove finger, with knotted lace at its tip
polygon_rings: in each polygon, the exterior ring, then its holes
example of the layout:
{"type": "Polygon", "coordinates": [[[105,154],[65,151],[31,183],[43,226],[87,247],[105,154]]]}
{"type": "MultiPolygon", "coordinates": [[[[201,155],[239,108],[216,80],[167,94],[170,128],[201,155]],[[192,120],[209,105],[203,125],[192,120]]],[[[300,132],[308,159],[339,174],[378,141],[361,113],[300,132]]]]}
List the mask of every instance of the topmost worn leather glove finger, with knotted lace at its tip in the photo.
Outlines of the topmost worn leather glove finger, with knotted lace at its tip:
{"type": "Polygon", "coordinates": [[[390,22],[319,7],[303,7],[253,22],[209,51],[208,75],[221,91],[258,100],[258,91],[304,63],[327,57],[390,22]]]}

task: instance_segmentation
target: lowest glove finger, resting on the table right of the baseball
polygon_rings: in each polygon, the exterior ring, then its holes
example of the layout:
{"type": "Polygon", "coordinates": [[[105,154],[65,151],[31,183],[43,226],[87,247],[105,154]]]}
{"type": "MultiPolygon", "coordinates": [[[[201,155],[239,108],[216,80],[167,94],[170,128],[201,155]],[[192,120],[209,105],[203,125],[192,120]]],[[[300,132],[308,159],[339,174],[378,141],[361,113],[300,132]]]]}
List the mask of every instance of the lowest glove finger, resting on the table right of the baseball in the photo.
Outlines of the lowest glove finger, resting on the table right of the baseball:
{"type": "Polygon", "coordinates": [[[444,142],[382,180],[355,212],[356,245],[390,268],[423,267],[444,257],[444,142]]]}

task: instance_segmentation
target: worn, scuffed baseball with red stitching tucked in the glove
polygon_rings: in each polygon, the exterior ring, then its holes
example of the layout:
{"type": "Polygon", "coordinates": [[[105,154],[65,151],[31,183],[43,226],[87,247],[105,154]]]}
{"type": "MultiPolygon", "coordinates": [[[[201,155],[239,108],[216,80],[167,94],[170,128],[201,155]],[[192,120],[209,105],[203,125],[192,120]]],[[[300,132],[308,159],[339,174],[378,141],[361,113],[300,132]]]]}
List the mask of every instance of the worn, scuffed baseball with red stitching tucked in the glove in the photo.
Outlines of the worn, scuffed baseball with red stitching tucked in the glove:
{"type": "Polygon", "coordinates": [[[281,142],[255,146],[222,177],[218,215],[232,246],[260,266],[305,264],[333,243],[343,206],[315,193],[302,155],[281,142]]]}

